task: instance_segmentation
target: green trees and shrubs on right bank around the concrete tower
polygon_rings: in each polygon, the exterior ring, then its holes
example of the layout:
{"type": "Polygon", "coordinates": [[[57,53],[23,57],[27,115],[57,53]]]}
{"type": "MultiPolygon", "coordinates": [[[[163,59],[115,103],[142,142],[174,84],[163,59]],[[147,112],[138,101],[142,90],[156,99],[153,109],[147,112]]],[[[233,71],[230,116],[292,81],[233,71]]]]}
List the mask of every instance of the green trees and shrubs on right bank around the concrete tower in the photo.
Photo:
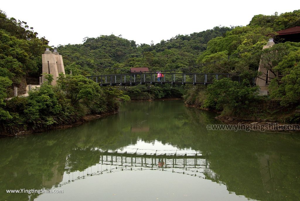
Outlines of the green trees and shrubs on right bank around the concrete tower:
{"type": "MultiPolygon", "coordinates": [[[[188,105],[213,109],[222,116],[249,121],[275,121],[298,123],[300,121],[299,61],[300,43],[275,44],[262,51],[264,62],[276,77],[269,84],[269,96],[258,96],[258,87],[252,87],[242,76],[242,83],[221,79],[205,88],[187,90],[184,99],[188,105]]],[[[257,73],[247,69],[248,75],[257,73]]],[[[243,75],[246,71],[241,72],[243,75]]]]}

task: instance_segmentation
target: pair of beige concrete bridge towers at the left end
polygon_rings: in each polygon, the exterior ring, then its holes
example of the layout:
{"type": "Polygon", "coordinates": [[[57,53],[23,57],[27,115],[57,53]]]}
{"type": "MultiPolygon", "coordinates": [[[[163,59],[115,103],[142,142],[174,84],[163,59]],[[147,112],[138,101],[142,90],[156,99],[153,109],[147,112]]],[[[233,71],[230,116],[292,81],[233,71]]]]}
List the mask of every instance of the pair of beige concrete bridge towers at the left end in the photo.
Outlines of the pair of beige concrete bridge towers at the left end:
{"type": "MultiPolygon", "coordinates": [[[[43,73],[53,75],[53,81],[51,85],[56,85],[56,80],[59,73],[64,72],[64,62],[62,56],[54,49],[53,53],[46,48],[44,54],[42,54],[43,73]]],[[[43,79],[44,80],[44,79],[43,79]]]]}

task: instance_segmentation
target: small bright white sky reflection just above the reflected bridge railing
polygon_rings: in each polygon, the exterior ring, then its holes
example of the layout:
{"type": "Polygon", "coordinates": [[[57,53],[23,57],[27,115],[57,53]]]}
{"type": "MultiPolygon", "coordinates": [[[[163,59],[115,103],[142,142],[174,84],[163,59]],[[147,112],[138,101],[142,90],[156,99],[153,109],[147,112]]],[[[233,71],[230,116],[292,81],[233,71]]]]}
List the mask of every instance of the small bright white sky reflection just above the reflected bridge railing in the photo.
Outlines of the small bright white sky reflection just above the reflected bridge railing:
{"type": "MultiPolygon", "coordinates": [[[[106,151],[106,150],[102,150],[102,149],[99,149],[99,150],[106,151]]],[[[155,140],[155,141],[149,143],[149,142],[144,142],[141,139],[138,139],[136,144],[131,144],[131,145],[122,147],[117,150],[108,150],[108,152],[116,152],[116,151],[118,151],[118,153],[124,153],[124,152],[137,153],[137,154],[147,153],[149,155],[155,154],[155,153],[156,154],[165,154],[166,153],[167,155],[171,155],[171,154],[175,154],[175,153],[177,155],[184,155],[184,154],[195,155],[197,153],[198,155],[201,155],[201,154],[199,154],[199,151],[192,150],[191,148],[179,149],[168,143],[163,144],[163,143],[161,143],[161,141],[155,140]]]]}

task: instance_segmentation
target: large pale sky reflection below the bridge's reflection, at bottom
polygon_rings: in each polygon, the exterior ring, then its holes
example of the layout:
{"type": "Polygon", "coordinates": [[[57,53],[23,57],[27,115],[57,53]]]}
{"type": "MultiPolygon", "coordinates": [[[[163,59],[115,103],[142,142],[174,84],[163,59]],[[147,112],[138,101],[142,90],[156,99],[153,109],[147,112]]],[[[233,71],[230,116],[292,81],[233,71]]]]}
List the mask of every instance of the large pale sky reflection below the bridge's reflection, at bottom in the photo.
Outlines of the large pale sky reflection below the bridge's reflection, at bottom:
{"type": "MultiPolygon", "coordinates": [[[[76,172],[74,177],[77,174],[83,173],[76,172]]],[[[114,173],[86,176],[56,189],[64,193],[44,193],[35,200],[252,200],[228,192],[226,185],[165,170],[115,169],[114,173]]]]}

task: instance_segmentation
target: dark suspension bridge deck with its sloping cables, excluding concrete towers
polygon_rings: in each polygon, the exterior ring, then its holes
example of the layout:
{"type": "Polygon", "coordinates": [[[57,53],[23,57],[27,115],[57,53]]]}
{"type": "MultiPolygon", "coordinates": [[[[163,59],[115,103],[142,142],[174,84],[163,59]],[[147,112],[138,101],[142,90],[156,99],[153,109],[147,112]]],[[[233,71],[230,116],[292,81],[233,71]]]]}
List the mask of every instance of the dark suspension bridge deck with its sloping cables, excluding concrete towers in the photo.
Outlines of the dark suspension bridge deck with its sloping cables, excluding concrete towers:
{"type": "MultiPolygon", "coordinates": [[[[87,79],[92,79],[95,82],[99,83],[100,86],[122,86],[122,85],[138,85],[138,84],[177,84],[177,85],[208,85],[212,84],[214,79],[219,80],[222,78],[230,78],[232,81],[242,82],[241,77],[239,75],[233,75],[230,73],[176,73],[176,71],[184,71],[184,70],[192,70],[195,68],[204,67],[207,65],[215,65],[216,63],[222,62],[222,61],[228,61],[230,58],[238,57],[241,54],[245,52],[250,52],[253,50],[256,50],[257,48],[261,48],[261,45],[265,44],[267,41],[258,43],[254,45],[252,48],[245,49],[243,51],[240,51],[238,53],[232,54],[227,57],[223,57],[211,62],[207,63],[201,63],[196,66],[188,66],[184,68],[178,68],[178,69],[172,69],[172,70],[164,70],[161,71],[161,73],[164,74],[164,77],[161,77],[160,79],[157,76],[157,73],[155,72],[134,72],[134,73],[124,73],[124,74],[111,74],[111,75],[95,75],[95,76],[86,76],[87,79]],[[174,73],[172,73],[172,71],[174,73]]],[[[63,54],[64,55],[64,54],[63,54]]],[[[76,57],[65,55],[67,57],[70,57],[71,59],[76,59],[76,57]]],[[[82,60],[81,60],[82,61],[82,60]]],[[[84,63],[87,63],[89,65],[95,65],[94,63],[82,61],[84,63]]],[[[110,70],[120,70],[117,68],[112,68],[108,66],[103,65],[95,65],[99,68],[104,69],[110,69],[110,70]]],[[[130,71],[130,70],[124,70],[124,71],[130,71]]],[[[255,85],[256,78],[252,78],[252,81],[250,84],[252,86],[255,85]]]]}

